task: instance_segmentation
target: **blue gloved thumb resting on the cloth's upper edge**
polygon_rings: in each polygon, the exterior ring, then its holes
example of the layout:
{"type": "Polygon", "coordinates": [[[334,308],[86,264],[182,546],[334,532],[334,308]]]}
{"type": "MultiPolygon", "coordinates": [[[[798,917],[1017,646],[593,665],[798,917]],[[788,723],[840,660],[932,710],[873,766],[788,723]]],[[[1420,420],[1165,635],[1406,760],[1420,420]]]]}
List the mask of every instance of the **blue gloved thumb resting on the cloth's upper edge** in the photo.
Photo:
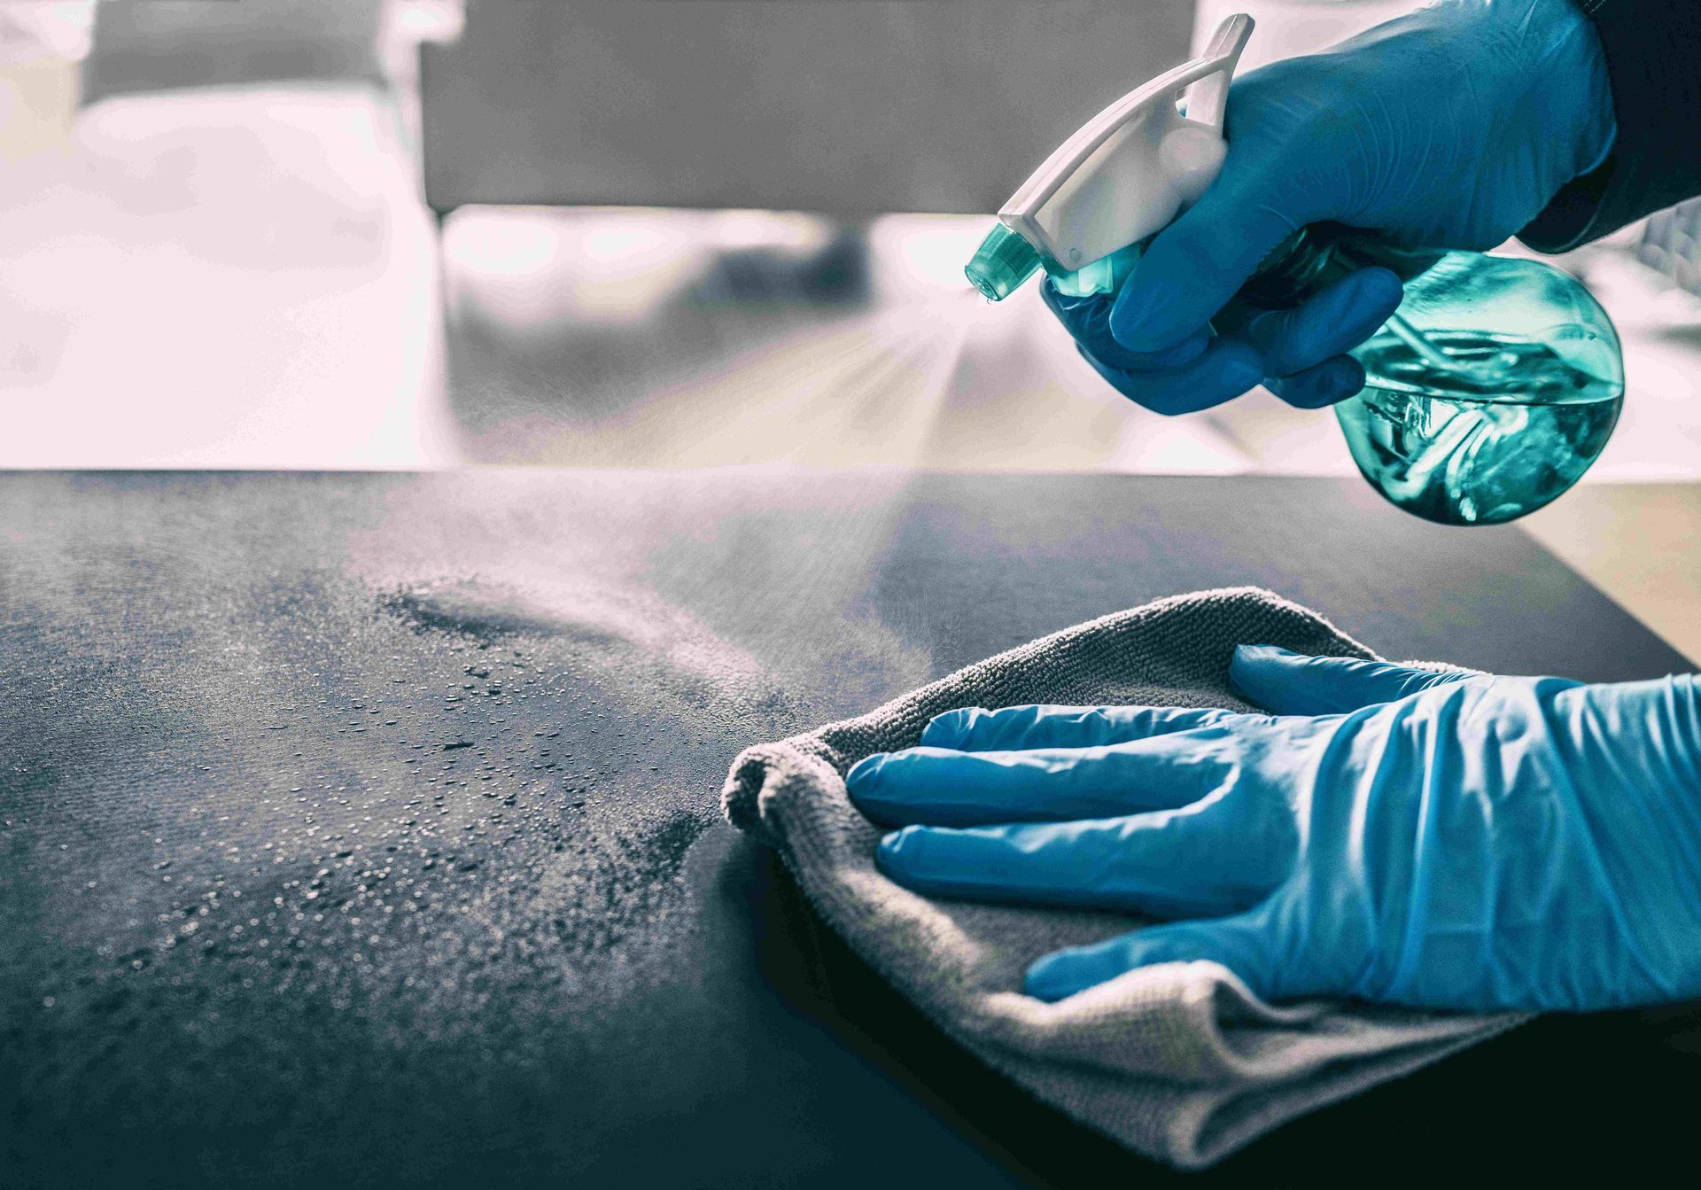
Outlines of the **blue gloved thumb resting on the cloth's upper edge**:
{"type": "Polygon", "coordinates": [[[1385,661],[1306,657],[1276,645],[1237,645],[1228,662],[1230,686],[1271,715],[1342,715],[1475,676],[1385,661]]]}

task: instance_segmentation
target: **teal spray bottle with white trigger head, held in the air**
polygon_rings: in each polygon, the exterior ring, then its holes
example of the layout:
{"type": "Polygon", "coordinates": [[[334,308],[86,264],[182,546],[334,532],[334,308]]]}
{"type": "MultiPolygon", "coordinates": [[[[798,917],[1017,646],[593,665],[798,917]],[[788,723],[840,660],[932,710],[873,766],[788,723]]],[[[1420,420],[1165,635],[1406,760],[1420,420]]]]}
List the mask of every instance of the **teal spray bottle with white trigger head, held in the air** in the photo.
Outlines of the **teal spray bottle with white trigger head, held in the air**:
{"type": "MultiPolygon", "coordinates": [[[[1250,34],[1250,17],[1228,17],[1199,58],[1063,141],[998,211],[966,269],[975,288],[1000,301],[1044,269],[1067,295],[1114,295],[1143,243],[1221,170],[1228,82],[1250,34]]],[[[1317,225],[1277,245],[1235,301],[1291,308],[1368,264],[1405,283],[1395,315],[1352,352],[1364,390],[1335,405],[1371,487],[1441,524],[1499,524],[1589,470],[1618,422],[1624,361],[1601,303],[1560,269],[1317,225]]]]}

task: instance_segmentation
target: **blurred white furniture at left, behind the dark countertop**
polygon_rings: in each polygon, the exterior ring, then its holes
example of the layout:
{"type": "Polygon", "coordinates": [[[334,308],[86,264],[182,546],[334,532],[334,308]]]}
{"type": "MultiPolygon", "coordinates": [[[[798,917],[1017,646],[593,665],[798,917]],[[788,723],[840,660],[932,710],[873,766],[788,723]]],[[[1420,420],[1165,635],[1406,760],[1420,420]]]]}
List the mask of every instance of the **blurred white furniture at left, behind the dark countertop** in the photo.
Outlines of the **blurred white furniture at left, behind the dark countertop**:
{"type": "Polygon", "coordinates": [[[452,461],[435,238],[371,85],[95,104],[0,174],[0,466],[452,461]]]}

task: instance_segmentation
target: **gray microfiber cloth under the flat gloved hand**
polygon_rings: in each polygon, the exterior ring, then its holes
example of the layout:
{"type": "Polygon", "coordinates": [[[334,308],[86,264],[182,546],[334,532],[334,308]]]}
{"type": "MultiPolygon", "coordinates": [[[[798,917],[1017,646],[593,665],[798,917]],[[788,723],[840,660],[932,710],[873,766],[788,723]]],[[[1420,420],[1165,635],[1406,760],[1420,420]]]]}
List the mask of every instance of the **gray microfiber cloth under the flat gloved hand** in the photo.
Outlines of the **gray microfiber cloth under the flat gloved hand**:
{"type": "Polygon", "coordinates": [[[850,805],[844,775],[864,756],[915,746],[930,717],[956,707],[1252,710],[1228,688],[1237,644],[1376,657],[1269,591],[1158,599],[959,669],[861,718],[750,747],[726,778],[723,809],[779,850],[857,955],[988,1066],[1129,1149],[1203,1168],[1524,1016],[1266,1004],[1213,962],[1143,967],[1041,1003],[1021,994],[1029,962],[1141,919],[908,892],[874,870],[881,831],[850,805]]]}

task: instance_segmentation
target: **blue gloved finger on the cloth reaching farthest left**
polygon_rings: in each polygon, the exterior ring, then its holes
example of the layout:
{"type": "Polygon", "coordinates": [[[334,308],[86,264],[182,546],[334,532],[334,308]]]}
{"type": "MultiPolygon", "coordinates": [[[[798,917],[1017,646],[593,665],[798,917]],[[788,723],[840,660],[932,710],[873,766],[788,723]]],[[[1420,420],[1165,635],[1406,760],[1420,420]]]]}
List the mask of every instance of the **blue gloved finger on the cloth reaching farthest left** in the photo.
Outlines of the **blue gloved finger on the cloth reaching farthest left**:
{"type": "Polygon", "coordinates": [[[878,752],[845,773],[850,802],[890,826],[1102,819],[1196,802],[1226,771],[1186,732],[1116,747],[878,752]]]}

